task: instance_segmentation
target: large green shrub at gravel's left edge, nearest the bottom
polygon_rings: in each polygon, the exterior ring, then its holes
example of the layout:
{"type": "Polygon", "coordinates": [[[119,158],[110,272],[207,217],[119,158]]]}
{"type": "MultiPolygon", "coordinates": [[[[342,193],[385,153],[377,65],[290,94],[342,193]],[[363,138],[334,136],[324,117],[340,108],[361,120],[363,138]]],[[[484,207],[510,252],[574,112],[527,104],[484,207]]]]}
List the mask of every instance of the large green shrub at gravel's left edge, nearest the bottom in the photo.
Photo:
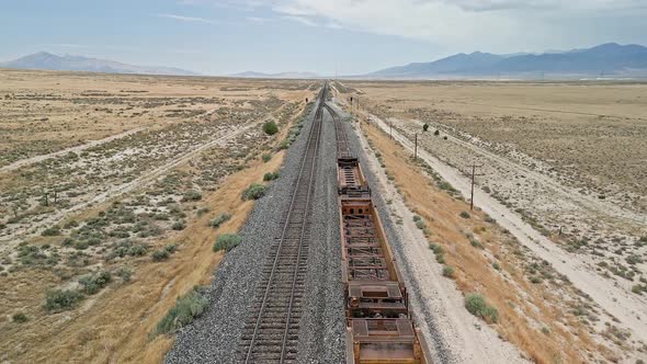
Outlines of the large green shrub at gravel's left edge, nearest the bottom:
{"type": "Polygon", "coordinates": [[[208,305],[203,288],[194,287],[175,300],[167,315],[157,323],[155,334],[175,331],[191,322],[204,312],[208,305]]]}

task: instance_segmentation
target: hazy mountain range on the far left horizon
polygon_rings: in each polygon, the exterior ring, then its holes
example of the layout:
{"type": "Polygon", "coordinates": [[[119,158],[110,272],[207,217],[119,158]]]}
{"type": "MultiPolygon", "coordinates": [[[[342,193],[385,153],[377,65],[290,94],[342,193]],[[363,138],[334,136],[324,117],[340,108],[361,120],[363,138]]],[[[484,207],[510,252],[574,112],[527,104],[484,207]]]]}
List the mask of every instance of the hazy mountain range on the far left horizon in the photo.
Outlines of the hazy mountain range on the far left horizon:
{"type": "Polygon", "coordinates": [[[47,52],[39,52],[14,60],[0,62],[0,67],[104,73],[197,76],[195,72],[180,68],[135,66],[114,60],[88,58],[83,56],[57,56],[47,52]]]}

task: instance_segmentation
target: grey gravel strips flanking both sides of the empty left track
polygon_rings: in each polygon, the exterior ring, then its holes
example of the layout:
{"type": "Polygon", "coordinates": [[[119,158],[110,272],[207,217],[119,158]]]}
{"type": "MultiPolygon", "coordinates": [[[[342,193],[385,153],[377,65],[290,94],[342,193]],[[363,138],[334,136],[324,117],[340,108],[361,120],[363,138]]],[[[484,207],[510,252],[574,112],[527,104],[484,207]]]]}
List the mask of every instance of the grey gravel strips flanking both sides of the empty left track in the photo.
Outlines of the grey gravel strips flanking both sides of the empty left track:
{"type": "MultiPolygon", "coordinates": [[[[242,243],[228,252],[214,270],[208,308],[178,332],[166,363],[239,362],[237,350],[243,323],[269,254],[271,241],[268,237],[280,236],[281,220],[287,213],[315,111],[313,107],[300,135],[287,150],[281,178],[256,202],[239,231],[242,243]]],[[[330,224],[339,217],[334,128],[329,117],[325,118],[321,133],[304,297],[308,309],[299,323],[299,363],[341,363],[344,350],[339,226],[330,224]]]]}

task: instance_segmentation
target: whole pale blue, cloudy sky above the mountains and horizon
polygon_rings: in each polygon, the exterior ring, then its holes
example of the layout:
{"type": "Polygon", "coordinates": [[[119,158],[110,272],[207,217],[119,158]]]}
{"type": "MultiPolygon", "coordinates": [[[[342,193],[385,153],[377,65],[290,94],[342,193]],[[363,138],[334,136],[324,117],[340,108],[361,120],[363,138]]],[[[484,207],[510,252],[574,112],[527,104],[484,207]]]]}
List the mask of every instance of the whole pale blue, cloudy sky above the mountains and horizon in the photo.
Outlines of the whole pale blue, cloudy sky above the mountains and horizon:
{"type": "Polygon", "coordinates": [[[647,45],[647,0],[0,0],[0,60],[361,75],[476,50],[647,45]]]}

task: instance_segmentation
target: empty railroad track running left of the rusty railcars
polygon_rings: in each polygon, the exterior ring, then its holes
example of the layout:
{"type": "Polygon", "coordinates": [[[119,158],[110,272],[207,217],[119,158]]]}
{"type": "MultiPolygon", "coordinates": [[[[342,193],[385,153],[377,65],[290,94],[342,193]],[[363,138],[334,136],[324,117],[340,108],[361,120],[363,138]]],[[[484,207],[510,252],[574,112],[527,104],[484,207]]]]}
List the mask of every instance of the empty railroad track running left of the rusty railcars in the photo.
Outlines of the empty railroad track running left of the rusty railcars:
{"type": "Polygon", "coordinates": [[[296,363],[297,360],[326,90],[324,86],[281,237],[270,248],[243,326],[238,350],[243,363],[296,363]]]}

